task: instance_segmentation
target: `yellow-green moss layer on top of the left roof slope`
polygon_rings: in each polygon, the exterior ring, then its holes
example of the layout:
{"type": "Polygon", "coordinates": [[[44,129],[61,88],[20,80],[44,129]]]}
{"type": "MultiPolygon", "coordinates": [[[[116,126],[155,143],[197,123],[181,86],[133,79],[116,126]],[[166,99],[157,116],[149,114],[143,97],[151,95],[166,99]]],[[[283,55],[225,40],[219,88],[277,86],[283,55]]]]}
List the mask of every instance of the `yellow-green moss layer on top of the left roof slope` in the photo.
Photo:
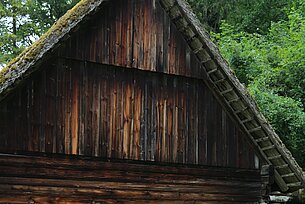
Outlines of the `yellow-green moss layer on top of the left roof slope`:
{"type": "MultiPolygon", "coordinates": [[[[62,16],[54,25],[44,34],[39,40],[33,43],[30,47],[25,49],[19,56],[11,60],[6,67],[0,71],[0,86],[9,78],[10,71],[20,69],[28,63],[35,63],[47,51],[52,49],[54,45],[67,34],[83,17],[92,10],[97,0],[81,0],[72,9],[70,9],[64,16],[62,16]]],[[[98,4],[98,3],[97,3],[98,4]]]]}

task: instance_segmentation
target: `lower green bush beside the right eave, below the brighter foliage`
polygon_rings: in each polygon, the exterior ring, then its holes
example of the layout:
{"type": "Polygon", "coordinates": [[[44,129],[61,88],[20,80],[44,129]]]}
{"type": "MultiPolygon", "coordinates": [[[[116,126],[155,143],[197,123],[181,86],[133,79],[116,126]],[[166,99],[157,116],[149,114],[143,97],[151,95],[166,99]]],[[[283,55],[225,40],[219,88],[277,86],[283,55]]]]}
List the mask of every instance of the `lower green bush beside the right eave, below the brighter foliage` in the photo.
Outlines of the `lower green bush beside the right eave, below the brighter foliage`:
{"type": "Polygon", "coordinates": [[[292,152],[295,159],[305,166],[305,113],[302,104],[289,97],[280,96],[266,89],[262,81],[248,87],[258,102],[262,113],[292,152]]]}

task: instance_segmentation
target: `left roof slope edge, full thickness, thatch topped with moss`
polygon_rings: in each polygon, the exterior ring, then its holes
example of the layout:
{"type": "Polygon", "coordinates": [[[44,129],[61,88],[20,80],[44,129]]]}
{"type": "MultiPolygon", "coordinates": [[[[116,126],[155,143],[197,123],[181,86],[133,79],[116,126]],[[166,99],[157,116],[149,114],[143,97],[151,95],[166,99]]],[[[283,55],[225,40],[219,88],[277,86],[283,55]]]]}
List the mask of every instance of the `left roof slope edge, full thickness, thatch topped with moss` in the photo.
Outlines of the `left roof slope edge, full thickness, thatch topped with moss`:
{"type": "Polygon", "coordinates": [[[95,11],[104,0],[81,0],[30,47],[11,60],[0,71],[0,95],[8,89],[16,79],[23,76],[35,63],[80,23],[92,11],[95,11]]]}

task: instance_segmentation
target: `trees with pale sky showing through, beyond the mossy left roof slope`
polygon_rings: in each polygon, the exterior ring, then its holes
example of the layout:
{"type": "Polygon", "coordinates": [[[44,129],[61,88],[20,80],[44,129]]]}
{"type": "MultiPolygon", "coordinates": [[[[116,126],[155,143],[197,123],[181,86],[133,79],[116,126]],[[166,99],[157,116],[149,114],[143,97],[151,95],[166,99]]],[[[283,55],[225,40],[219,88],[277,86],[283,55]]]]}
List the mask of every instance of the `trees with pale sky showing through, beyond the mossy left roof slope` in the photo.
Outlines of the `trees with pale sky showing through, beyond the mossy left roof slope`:
{"type": "Polygon", "coordinates": [[[0,67],[31,45],[79,0],[0,0],[0,67]]]}

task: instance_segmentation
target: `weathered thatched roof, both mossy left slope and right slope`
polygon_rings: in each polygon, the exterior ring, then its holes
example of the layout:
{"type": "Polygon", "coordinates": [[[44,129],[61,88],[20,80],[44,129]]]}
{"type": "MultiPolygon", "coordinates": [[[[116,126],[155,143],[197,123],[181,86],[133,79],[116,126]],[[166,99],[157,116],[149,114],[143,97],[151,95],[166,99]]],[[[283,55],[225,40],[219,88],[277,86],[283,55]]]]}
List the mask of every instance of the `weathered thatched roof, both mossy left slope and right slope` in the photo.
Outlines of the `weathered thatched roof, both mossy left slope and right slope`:
{"type": "MultiPolygon", "coordinates": [[[[0,100],[32,73],[39,62],[69,37],[85,18],[103,6],[104,0],[82,0],[68,11],[36,43],[0,72],[0,100]]],[[[274,166],[275,180],[283,192],[304,187],[305,176],[289,150],[260,113],[255,101],[238,81],[207,32],[184,0],[159,0],[172,23],[182,33],[202,67],[209,87],[240,127],[258,155],[274,166]]]]}

